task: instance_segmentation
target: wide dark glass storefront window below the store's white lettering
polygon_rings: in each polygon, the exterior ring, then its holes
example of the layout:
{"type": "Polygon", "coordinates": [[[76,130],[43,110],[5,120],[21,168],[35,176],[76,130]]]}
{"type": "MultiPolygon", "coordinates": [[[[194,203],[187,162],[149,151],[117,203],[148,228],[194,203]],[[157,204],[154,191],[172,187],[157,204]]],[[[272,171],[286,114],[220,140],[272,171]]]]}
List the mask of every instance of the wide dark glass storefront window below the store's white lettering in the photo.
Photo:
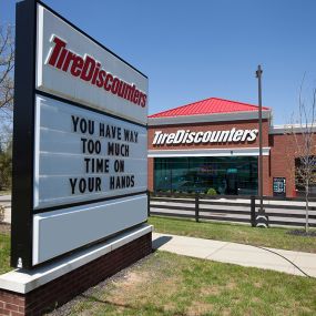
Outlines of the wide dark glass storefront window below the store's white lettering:
{"type": "Polygon", "coordinates": [[[154,159],[154,190],[201,192],[213,187],[218,194],[257,194],[257,157],[154,159]]]}

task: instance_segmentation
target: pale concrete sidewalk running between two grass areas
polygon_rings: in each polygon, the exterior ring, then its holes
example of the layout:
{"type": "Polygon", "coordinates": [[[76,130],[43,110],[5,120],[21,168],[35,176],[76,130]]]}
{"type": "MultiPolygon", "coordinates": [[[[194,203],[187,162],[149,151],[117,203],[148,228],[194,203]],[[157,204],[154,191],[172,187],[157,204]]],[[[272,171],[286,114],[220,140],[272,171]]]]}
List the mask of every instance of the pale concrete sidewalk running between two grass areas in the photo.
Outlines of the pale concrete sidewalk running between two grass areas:
{"type": "Polygon", "coordinates": [[[211,259],[222,263],[274,269],[293,275],[316,277],[316,254],[218,242],[170,234],[153,233],[153,247],[180,255],[211,259]],[[288,262],[288,261],[290,262],[288,262]]]}

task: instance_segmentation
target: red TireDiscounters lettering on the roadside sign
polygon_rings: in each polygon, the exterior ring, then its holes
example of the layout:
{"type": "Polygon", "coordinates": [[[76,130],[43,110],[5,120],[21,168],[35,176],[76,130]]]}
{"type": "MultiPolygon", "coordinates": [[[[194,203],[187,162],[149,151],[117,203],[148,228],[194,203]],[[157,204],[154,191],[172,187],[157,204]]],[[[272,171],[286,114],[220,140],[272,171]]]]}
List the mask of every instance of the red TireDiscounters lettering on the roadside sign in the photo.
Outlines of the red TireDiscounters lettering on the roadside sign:
{"type": "Polygon", "coordinates": [[[147,95],[139,90],[135,84],[128,83],[122,79],[105,71],[101,62],[93,57],[84,54],[81,57],[67,49],[67,41],[52,35],[51,42],[54,47],[50,50],[45,64],[70,73],[73,77],[104,89],[106,92],[125,99],[136,105],[144,108],[146,105],[147,95]]]}

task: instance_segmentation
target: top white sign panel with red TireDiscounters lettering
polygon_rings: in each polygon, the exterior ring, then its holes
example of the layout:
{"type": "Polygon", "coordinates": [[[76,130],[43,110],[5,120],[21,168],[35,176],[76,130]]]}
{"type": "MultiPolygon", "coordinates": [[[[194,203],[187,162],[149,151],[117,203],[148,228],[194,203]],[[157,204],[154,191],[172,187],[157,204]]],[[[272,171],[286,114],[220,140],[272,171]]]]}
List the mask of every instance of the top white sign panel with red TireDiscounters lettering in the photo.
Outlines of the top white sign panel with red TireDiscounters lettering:
{"type": "Polygon", "coordinates": [[[139,123],[147,79],[38,4],[37,89],[139,123]]]}

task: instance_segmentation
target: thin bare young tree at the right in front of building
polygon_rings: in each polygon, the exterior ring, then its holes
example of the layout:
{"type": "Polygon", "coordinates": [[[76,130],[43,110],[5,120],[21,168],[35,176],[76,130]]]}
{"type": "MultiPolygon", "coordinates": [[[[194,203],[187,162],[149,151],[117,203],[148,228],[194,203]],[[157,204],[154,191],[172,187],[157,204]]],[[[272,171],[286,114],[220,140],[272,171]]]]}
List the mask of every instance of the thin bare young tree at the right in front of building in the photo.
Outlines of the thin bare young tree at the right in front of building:
{"type": "Polygon", "coordinates": [[[292,143],[288,150],[294,151],[290,153],[290,156],[293,157],[293,154],[295,156],[295,162],[294,164],[292,163],[294,169],[292,173],[295,175],[295,184],[304,188],[305,231],[308,233],[309,194],[310,187],[316,185],[316,88],[313,89],[312,100],[306,103],[302,96],[303,82],[299,89],[297,120],[292,119],[287,133],[292,143]]]}

